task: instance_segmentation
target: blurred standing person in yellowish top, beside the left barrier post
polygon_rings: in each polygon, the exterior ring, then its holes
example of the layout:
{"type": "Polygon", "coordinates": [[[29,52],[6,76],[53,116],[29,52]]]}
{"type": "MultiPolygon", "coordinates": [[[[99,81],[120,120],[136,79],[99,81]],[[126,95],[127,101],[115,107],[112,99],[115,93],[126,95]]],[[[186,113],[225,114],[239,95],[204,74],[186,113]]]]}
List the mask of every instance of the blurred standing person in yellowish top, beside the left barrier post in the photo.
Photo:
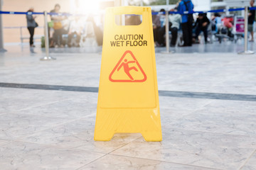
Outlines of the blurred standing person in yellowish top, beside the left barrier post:
{"type": "MultiPolygon", "coordinates": [[[[60,5],[55,4],[54,9],[50,11],[50,13],[60,13],[60,5]]],[[[59,16],[57,15],[50,15],[51,21],[53,21],[53,42],[55,44],[55,47],[63,47],[63,24],[61,21],[65,19],[65,16],[59,16]]]]}

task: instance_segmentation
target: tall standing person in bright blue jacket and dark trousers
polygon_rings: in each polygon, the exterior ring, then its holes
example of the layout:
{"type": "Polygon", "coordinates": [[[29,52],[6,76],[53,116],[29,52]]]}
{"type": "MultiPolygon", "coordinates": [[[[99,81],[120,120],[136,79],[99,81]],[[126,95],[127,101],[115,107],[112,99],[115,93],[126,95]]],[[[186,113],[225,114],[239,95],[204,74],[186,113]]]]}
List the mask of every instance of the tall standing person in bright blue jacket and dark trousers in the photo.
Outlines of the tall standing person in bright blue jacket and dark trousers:
{"type": "MultiPolygon", "coordinates": [[[[178,4],[178,12],[193,11],[193,3],[191,0],[181,0],[178,4]]],[[[193,13],[181,15],[181,28],[183,33],[183,47],[192,46],[192,30],[193,30],[193,13]]]]}

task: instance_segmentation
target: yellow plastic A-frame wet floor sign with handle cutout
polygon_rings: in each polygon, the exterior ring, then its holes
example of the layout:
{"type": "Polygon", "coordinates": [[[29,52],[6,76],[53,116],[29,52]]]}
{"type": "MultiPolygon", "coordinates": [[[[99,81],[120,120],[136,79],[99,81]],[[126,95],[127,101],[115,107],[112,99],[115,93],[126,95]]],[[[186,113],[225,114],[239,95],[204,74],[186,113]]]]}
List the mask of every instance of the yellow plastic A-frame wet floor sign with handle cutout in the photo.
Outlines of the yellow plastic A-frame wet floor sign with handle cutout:
{"type": "Polygon", "coordinates": [[[151,8],[107,8],[95,123],[95,140],[115,133],[141,133],[146,141],[161,141],[159,94],[151,8]],[[115,16],[142,16],[139,26],[118,26],[115,16]]]}

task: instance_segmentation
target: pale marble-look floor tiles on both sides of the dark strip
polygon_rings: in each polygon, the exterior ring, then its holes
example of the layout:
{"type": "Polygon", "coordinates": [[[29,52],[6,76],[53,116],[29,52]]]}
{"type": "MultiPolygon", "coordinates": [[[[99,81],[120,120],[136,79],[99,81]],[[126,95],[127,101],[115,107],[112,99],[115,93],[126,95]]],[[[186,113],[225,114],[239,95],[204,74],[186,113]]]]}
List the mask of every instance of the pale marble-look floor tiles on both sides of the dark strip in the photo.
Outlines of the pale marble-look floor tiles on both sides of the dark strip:
{"type": "MultiPolygon", "coordinates": [[[[0,83],[99,84],[99,52],[51,53],[57,60],[41,62],[39,49],[8,50],[0,83]]],[[[255,96],[255,65],[255,55],[235,52],[156,53],[161,91],[255,96]]],[[[162,142],[140,134],[95,142],[97,93],[0,87],[0,169],[256,169],[256,100],[159,102],[162,142]]]]}

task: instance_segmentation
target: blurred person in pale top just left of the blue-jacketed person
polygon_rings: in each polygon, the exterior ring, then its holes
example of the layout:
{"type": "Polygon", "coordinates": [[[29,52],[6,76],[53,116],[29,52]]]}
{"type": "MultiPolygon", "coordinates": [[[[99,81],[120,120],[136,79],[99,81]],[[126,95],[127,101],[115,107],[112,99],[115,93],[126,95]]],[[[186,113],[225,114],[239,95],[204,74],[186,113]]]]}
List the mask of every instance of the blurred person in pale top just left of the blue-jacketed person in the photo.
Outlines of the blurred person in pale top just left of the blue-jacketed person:
{"type": "MultiPolygon", "coordinates": [[[[177,7],[171,9],[171,11],[177,11],[177,7]]],[[[171,14],[169,16],[169,21],[171,23],[170,25],[170,30],[171,30],[171,47],[174,47],[176,45],[176,40],[178,37],[178,29],[180,28],[181,25],[181,15],[178,13],[171,14]]]]}

